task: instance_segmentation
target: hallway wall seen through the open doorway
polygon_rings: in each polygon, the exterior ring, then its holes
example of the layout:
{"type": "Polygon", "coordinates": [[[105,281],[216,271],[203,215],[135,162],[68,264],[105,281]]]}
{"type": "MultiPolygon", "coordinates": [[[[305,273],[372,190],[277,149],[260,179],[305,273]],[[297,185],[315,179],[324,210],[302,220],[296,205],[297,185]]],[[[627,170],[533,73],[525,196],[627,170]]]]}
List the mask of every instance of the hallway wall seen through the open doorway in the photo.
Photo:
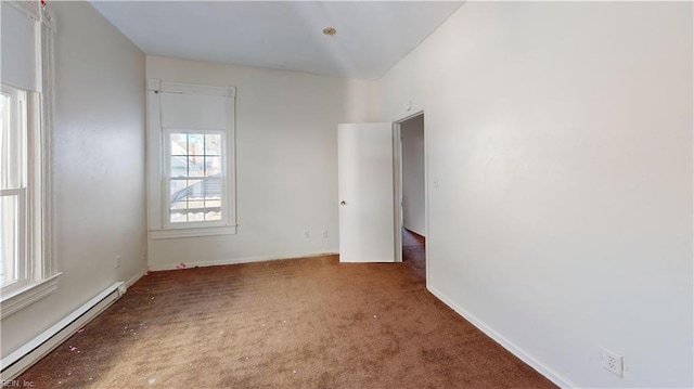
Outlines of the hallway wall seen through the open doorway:
{"type": "Polygon", "coordinates": [[[424,198],[424,115],[400,125],[402,151],[402,225],[426,236],[424,198]]]}

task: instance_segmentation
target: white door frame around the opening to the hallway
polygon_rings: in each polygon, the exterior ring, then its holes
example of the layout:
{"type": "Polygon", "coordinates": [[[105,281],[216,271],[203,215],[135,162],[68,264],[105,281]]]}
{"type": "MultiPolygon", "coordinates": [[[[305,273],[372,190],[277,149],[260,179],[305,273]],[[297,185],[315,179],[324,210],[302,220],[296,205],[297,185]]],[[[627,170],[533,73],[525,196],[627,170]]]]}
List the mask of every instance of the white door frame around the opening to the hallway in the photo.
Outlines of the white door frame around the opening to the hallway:
{"type": "MultiPolygon", "coordinates": [[[[395,229],[395,261],[402,262],[402,132],[401,125],[403,121],[412,119],[416,116],[424,115],[424,109],[416,111],[413,114],[393,120],[393,204],[394,204],[394,229],[395,229]]],[[[427,179],[427,153],[426,153],[426,116],[424,116],[424,234],[429,234],[429,212],[428,212],[428,179],[427,179]]],[[[424,255],[428,258],[428,248],[425,246],[424,255]]],[[[428,274],[428,261],[425,262],[426,273],[428,274]]]]}

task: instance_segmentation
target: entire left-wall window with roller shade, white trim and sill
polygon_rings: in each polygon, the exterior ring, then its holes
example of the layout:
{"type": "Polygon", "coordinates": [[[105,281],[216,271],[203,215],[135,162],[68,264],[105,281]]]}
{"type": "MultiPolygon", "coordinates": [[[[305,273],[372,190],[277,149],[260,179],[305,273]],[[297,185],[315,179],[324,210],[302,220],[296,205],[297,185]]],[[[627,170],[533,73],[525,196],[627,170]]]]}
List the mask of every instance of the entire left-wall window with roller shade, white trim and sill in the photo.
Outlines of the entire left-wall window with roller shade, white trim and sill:
{"type": "Polygon", "coordinates": [[[55,18],[39,1],[0,7],[2,319],[57,287],[52,258],[51,131],[55,18]],[[5,42],[5,37],[12,37],[5,42]],[[5,44],[8,43],[8,44],[5,44]]]}

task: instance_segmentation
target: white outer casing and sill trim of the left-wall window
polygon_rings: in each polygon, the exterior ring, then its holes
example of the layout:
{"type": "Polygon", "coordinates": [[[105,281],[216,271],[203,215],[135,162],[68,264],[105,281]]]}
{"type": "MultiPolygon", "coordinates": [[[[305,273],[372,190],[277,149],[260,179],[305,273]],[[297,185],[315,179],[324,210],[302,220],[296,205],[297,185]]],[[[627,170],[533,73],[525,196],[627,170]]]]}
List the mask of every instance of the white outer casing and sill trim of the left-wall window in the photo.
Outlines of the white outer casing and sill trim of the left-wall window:
{"type": "MultiPolygon", "coordinates": [[[[40,93],[29,93],[28,100],[39,99],[40,113],[33,109],[29,113],[29,121],[39,121],[39,139],[30,142],[39,142],[38,150],[41,152],[37,155],[36,146],[29,147],[27,156],[30,166],[39,166],[40,179],[34,180],[39,184],[28,193],[28,196],[40,196],[40,202],[30,200],[34,204],[40,203],[39,209],[29,212],[28,221],[30,224],[38,223],[41,230],[40,242],[33,242],[31,250],[40,251],[40,258],[30,258],[27,262],[35,267],[29,280],[22,287],[14,287],[2,290],[0,303],[0,320],[22,310],[23,308],[50,296],[57,289],[57,280],[63,274],[56,271],[53,242],[53,172],[52,172],[52,155],[53,155],[53,107],[55,106],[55,56],[54,56],[54,35],[56,31],[55,15],[48,7],[41,7],[38,0],[20,0],[11,1],[12,5],[24,12],[28,17],[35,21],[36,40],[36,79],[39,81],[37,86],[41,89],[40,93]],[[40,117],[38,116],[40,114],[40,117]],[[39,273],[39,274],[37,274],[39,273]]],[[[31,122],[29,122],[31,125],[31,122]]],[[[29,174],[36,174],[29,171],[29,174]]],[[[36,206],[33,208],[37,208],[36,206]]],[[[35,255],[33,255],[35,257],[35,255]]]]}

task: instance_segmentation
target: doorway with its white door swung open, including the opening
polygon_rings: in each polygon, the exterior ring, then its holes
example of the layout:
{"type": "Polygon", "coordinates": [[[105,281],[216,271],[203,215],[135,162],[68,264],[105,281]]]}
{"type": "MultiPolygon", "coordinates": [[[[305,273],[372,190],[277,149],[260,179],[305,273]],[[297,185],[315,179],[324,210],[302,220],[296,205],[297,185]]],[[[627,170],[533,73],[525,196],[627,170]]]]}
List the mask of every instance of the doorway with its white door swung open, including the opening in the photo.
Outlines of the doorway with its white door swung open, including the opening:
{"type": "Polygon", "coordinates": [[[421,111],[337,126],[340,262],[404,259],[426,278],[425,138],[421,111]]]}

